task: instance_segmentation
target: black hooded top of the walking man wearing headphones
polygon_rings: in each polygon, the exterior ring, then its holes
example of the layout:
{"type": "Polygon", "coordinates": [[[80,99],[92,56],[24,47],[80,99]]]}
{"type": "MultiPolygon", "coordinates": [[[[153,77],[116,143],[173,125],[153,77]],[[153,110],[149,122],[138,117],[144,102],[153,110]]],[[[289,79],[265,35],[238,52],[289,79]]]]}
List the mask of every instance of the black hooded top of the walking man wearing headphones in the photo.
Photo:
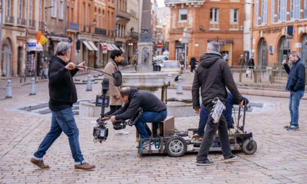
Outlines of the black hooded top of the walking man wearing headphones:
{"type": "Polygon", "coordinates": [[[77,102],[77,91],[72,77],[79,69],[65,69],[67,65],[61,58],[52,55],[49,60],[48,87],[49,109],[61,111],[77,102]]]}

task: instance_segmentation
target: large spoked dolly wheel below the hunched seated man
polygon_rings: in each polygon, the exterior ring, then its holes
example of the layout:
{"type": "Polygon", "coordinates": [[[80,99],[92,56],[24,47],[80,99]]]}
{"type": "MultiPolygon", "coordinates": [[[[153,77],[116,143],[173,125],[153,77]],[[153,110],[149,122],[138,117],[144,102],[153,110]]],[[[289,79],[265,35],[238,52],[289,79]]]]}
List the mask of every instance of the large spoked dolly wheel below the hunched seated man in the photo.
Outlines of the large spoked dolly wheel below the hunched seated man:
{"type": "Polygon", "coordinates": [[[172,136],[167,139],[165,149],[170,157],[181,157],[187,152],[187,143],[182,137],[172,136]]]}

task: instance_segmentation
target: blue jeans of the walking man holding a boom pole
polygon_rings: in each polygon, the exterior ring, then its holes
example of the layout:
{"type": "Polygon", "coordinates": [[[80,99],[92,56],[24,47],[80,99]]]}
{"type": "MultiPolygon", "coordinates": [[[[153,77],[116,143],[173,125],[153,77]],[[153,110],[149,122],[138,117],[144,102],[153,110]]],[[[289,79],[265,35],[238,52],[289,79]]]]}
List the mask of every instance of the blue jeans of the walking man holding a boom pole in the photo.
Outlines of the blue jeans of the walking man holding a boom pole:
{"type": "Polygon", "coordinates": [[[68,136],[74,164],[78,165],[84,163],[85,160],[83,159],[79,145],[79,129],[74,120],[72,109],[67,108],[62,111],[51,111],[51,113],[50,131],[34,153],[33,159],[42,161],[49,147],[63,131],[68,136]]]}

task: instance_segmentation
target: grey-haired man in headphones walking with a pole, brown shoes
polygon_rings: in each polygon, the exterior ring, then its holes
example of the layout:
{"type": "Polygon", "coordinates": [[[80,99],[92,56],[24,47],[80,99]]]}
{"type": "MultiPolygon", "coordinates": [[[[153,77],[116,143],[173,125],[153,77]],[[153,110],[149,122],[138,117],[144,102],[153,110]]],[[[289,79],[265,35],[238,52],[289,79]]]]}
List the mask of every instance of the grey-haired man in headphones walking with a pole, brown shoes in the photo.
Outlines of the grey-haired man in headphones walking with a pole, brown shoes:
{"type": "MultiPolygon", "coordinates": [[[[30,162],[39,169],[49,169],[43,157],[52,143],[64,132],[68,136],[71,154],[74,159],[74,170],[88,171],[95,168],[83,159],[79,145],[79,129],[72,113],[72,104],[77,102],[77,91],[72,77],[78,69],[70,62],[71,44],[60,42],[56,47],[56,55],[49,60],[48,87],[49,87],[49,109],[51,110],[51,128],[42,143],[34,153],[30,162]]],[[[83,66],[85,61],[78,66],[83,66]]]]}

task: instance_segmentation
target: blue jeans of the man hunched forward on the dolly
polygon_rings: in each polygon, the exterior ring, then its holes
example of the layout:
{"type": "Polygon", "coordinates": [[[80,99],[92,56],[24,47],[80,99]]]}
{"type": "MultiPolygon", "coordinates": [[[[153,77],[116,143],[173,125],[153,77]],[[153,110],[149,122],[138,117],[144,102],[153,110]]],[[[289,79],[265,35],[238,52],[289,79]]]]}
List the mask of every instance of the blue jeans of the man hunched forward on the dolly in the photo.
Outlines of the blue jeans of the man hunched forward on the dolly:
{"type": "Polygon", "coordinates": [[[141,138],[149,138],[144,123],[155,123],[165,120],[167,111],[161,112],[144,112],[140,120],[135,124],[141,138]]]}

